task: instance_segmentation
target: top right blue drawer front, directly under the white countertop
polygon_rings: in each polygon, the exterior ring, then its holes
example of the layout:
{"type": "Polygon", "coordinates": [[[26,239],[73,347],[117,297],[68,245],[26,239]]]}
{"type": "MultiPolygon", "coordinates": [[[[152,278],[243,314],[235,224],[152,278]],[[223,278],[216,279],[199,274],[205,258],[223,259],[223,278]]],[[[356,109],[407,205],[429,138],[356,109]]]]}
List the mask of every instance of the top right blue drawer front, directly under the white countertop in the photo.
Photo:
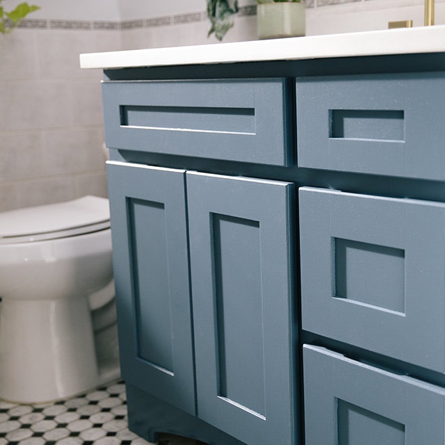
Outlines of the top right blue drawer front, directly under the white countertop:
{"type": "Polygon", "coordinates": [[[298,165],[445,179],[445,73],[296,81],[298,165]]]}

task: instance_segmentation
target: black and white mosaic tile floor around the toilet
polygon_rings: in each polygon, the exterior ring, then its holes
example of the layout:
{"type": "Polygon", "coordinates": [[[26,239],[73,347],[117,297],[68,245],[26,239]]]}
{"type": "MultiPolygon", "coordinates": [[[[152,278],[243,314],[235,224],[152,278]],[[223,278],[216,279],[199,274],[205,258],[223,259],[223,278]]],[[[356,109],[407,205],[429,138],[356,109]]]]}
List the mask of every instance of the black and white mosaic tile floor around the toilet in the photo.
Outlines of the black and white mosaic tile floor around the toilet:
{"type": "MultiPolygon", "coordinates": [[[[122,380],[55,403],[16,405],[0,400],[0,445],[150,445],[127,428],[122,380]]],[[[159,435],[158,445],[197,445],[159,435]]]]}

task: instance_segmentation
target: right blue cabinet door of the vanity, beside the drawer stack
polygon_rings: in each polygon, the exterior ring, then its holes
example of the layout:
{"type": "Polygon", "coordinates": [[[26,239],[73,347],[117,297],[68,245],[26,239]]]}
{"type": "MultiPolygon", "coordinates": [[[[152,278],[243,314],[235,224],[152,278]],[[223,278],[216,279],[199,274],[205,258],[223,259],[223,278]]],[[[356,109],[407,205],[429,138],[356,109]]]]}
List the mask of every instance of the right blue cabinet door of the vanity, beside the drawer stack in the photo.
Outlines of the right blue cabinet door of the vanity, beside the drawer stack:
{"type": "Polygon", "coordinates": [[[198,416],[296,444],[293,184],[187,172],[198,416]]]}

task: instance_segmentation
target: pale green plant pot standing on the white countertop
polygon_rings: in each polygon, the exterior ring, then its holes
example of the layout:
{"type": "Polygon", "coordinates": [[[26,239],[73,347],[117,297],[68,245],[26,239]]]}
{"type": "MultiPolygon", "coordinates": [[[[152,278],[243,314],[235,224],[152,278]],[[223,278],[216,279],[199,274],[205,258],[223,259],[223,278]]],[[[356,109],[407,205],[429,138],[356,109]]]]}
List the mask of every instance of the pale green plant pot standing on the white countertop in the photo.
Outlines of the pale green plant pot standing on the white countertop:
{"type": "Polygon", "coordinates": [[[293,1],[257,5],[258,37],[298,37],[306,33],[305,3],[293,1]]]}

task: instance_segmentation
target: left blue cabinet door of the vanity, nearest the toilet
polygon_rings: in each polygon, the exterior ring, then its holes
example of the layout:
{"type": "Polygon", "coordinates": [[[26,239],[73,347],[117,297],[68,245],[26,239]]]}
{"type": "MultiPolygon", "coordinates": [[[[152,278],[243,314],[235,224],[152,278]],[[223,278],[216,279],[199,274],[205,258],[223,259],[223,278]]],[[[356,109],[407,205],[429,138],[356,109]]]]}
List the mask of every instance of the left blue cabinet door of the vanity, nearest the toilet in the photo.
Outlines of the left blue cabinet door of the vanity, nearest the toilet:
{"type": "Polygon", "coordinates": [[[184,170],[107,175],[122,377],[195,414],[184,170]]]}

